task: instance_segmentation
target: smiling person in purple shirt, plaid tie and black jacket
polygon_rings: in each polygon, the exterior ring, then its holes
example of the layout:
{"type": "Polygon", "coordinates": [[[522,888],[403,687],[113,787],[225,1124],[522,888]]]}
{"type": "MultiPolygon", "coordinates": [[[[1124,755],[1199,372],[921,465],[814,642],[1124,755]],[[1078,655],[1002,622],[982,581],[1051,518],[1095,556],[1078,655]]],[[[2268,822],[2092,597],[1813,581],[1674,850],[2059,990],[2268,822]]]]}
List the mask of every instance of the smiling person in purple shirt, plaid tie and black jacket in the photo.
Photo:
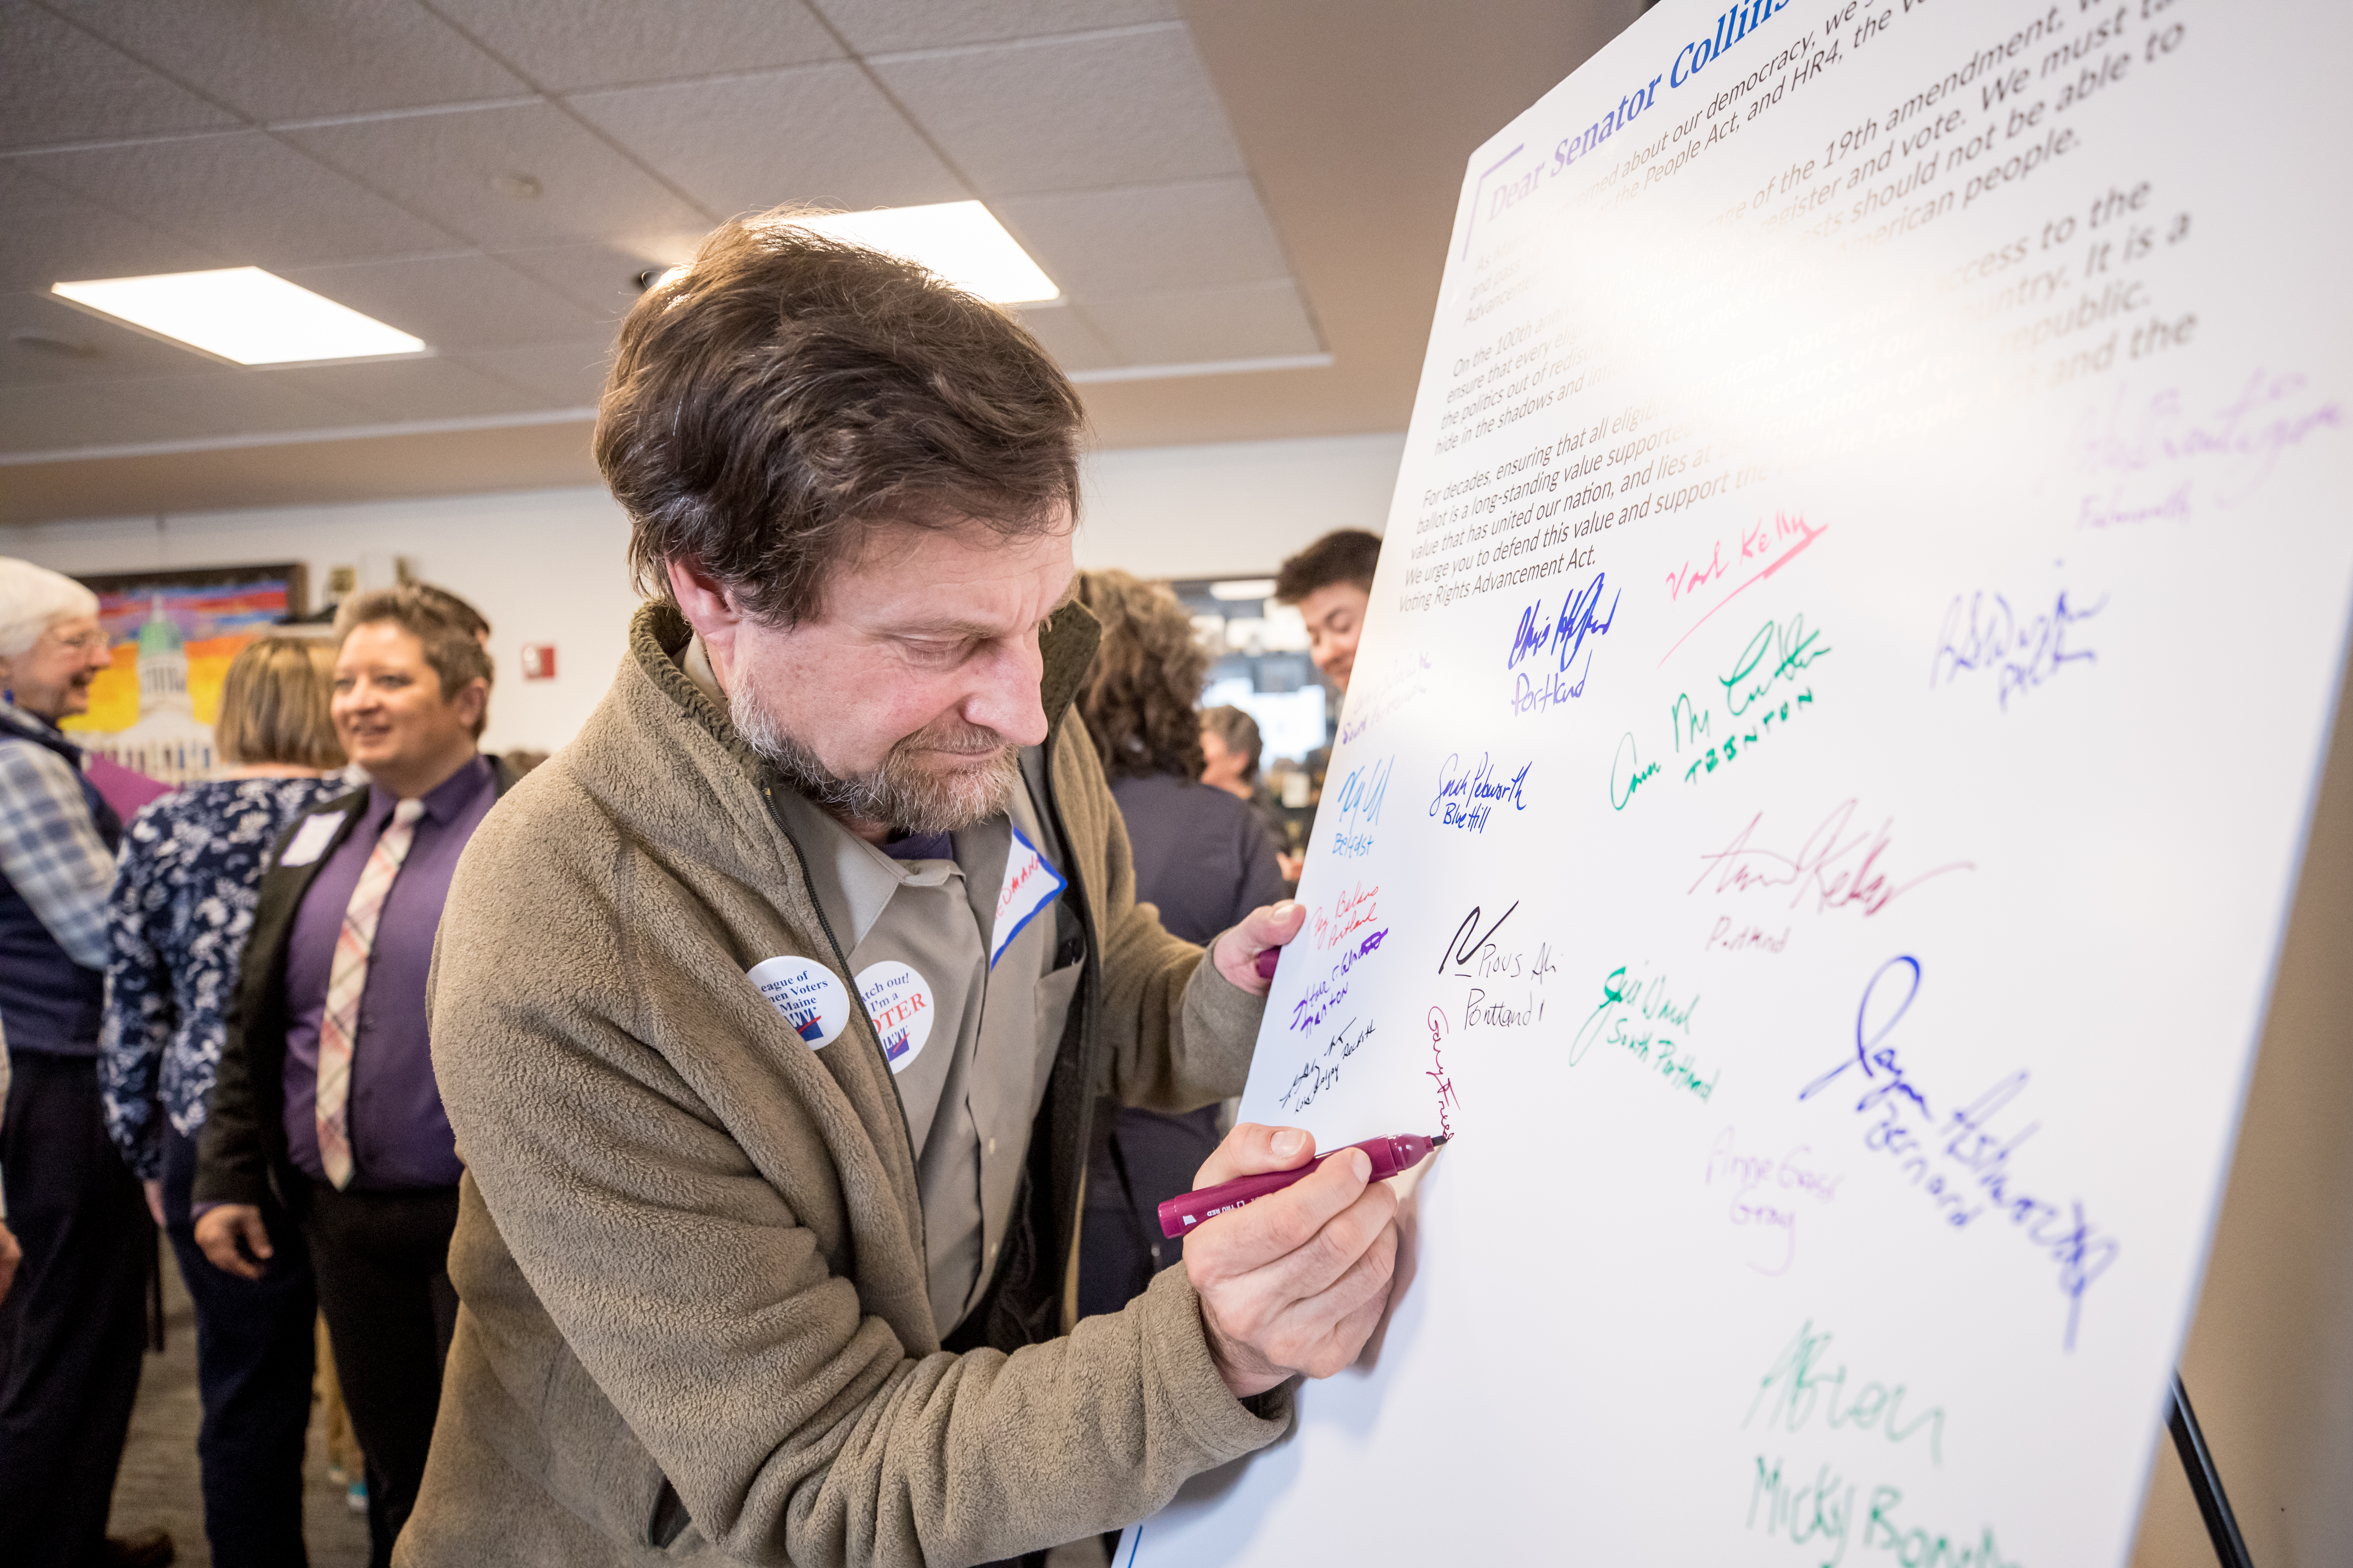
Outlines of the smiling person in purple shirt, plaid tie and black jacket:
{"type": "Polygon", "coordinates": [[[334,731],[365,790],[271,851],[198,1140],[195,1241],[259,1276],[264,1201],[299,1215],[351,1425],[369,1561],[391,1563],[433,1443],[456,1324],[456,1138],[433,1081],[426,971],[449,875],[508,785],[475,750],[492,665],[471,607],[402,585],[336,614],[334,731]]]}

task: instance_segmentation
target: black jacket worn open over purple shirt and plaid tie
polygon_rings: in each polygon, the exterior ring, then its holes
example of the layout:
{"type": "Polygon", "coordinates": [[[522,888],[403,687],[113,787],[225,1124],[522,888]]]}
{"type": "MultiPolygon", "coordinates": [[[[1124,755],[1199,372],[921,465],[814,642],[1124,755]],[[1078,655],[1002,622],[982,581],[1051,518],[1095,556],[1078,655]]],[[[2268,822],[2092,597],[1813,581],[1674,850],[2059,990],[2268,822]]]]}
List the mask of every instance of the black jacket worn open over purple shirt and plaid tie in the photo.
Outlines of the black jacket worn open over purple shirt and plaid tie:
{"type": "MultiPolygon", "coordinates": [[[[492,759],[496,792],[506,795],[515,771],[492,759]]],[[[254,929],[238,959],[238,992],[228,1004],[221,1072],[212,1081],[205,1126],[195,1140],[195,1204],[261,1204],[275,1199],[299,1213],[299,1199],[311,1182],[287,1152],[285,1065],[287,1065],[287,943],[301,912],[311,879],[334,858],[353,827],[360,825],[367,785],[346,790],[311,806],[271,844],[268,870],[254,903],[254,929]],[[280,865],[287,842],[313,816],[344,813],[327,846],[308,865],[280,865]]]]}

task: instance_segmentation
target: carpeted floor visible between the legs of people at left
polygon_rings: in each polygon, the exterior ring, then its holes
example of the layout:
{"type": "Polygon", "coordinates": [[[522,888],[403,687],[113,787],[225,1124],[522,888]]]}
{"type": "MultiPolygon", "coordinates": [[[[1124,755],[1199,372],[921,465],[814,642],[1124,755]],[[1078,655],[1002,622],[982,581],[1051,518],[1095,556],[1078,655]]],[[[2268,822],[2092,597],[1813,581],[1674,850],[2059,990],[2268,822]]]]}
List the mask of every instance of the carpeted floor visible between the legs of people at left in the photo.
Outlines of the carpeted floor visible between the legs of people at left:
{"type": "MultiPolygon", "coordinates": [[[[169,1530],[179,1568],[209,1568],[205,1502],[195,1481],[195,1307],[165,1248],[162,1269],[165,1354],[151,1354],[139,1375],[139,1408],[115,1476],[113,1535],[169,1530]]],[[[327,1479],[325,1441],[313,1408],[311,1448],[304,1455],[304,1537],[311,1568],[365,1568],[367,1519],[344,1502],[344,1488],[327,1479]]]]}

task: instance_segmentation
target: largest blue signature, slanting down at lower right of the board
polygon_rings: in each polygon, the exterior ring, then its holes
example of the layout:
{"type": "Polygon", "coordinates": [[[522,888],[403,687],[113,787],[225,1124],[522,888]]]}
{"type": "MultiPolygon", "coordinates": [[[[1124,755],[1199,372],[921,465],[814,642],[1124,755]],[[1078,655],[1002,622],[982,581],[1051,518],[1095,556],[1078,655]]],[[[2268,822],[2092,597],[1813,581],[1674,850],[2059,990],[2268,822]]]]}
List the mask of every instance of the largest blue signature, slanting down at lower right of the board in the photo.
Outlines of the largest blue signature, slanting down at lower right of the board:
{"type": "Polygon", "coordinates": [[[1913,1187],[1920,1187],[1937,1201],[1944,1222],[1953,1229],[1991,1211],[2007,1215],[2019,1234],[2042,1248],[2059,1265],[2059,1291],[2068,1298],[2066,1347],[2073,1352],[2075,1328],[2082,1319],[2082,1293],[2092,1288],[2094,1279],[2108,1272],[2122,1244],[2115,1237],[2101,1234],[2097,1225],[2082,1218],[2082,1199],[2068,1199],[2066,1211],[2061,1211],[2059,1204],[2028,1197],[2019,1190],[2009,1157],[2042,1124],[2028,1121],[2024,1128],[2005,1135],[1993,1131],[1991,1121],[2026,1093],[2026,1070],[2012,1072],[1969,1105],[1948,1112],[1944,1126],[1951,1128],[1951,1135],[1937,1145],[1939,1126],[1929,1110],[1927,1091],[1911,1079],[1897,1048],[1887,1044],[1887,1037],[1918,997],[1920,959],[1899,954],[1880,964],[1871,983],[1864,985],[1864,1001],[1854,1011],[1854,1056],[1840,1058],[1835,1067],[1800,1088],[1798,1098],[1812,1100],[1849,1067],[1861,1067],[1868,1086],[1857,1098],[1854,1110],[1857,1114],[1880,1114],[1880,1121],[1864,1133],[1864,1147],[1897,1159],[1897,1168],[1911,1178],[1913,1187]],[[1885,1004],[1880,1009],[1873,1006],[1882,980],[1901,985],[1904,997],[1873,1027],[1873,1013],[1885,1011],[1885,1004]],[[1920,1114],[1922,1128],[1906,1124],[1906,1110],[1920,1114]],[[1932,1166],[1932,1157],[1941,1157],[1951,1166],[1937,1168],[1932,1166]],[[1969,1187],[1977,1187],[1977,1192],[1969,1192],[1969,1187]],[[2054,1232],[2054,1225],[2061,1229],[2054,1232]]]}

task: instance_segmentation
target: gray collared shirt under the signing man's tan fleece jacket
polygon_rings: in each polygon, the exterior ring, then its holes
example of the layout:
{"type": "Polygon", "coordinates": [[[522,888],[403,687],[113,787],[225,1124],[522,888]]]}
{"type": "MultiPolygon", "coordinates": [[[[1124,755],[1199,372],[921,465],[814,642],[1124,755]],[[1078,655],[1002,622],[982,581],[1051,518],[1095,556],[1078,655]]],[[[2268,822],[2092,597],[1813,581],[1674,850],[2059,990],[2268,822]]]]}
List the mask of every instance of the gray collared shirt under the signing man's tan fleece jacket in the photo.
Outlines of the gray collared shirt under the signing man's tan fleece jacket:
{"type": "MultiPolygon", "coordinates": [[[[725,710],[699,639],[680,665],[725,710]]],[[[915,1147],[932,1321],[946,1338],[995,1274],[1078,994],[1080,964],[1054,966],[1056,900],[1040,898],[1031,856],[1052,877],[1068,867],[1042,853],[1026,785],[1007,813],[953,835],[953,858],[894,860],[805,797],[779,792],[779,802],[892,1063],[915,1147]],[[1007,865],[1019,882],[1009,903],[1007,865]],[[1012,936],[991,961],[1000,905],[1012,936]]],[[[859,1039],[845,1030],[826,1048],[859,1039]]]]}

